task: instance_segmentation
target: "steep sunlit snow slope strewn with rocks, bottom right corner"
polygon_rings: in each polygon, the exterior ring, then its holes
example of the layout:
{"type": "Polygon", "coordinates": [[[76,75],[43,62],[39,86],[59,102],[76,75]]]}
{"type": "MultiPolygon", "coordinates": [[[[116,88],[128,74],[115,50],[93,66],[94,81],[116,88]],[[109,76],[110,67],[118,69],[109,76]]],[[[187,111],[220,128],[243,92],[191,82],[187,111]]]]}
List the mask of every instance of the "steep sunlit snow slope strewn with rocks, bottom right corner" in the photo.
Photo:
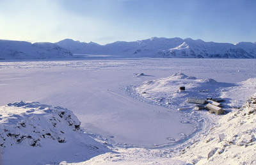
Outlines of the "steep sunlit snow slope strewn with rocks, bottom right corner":
{"type": "Polygon", "coordinates": [[[256,93],[238,111],[222,116],[177,159],[193,164],[256,164],[256,93]]]}

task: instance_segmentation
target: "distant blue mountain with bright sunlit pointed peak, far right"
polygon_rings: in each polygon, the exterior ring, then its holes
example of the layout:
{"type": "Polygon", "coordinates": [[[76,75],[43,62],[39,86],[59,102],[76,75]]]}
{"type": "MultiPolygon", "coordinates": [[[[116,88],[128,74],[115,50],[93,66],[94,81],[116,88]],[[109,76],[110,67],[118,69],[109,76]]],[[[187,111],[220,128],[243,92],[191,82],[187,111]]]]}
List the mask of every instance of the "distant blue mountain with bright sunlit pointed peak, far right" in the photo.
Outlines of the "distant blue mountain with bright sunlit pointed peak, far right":
{"type": "Polygon", "coordinates": [[[158,56],[165,58],[256,58],[256,44],[250,42],[214,43],[186,38],[177,47],[158,52],[158,56]]]}

